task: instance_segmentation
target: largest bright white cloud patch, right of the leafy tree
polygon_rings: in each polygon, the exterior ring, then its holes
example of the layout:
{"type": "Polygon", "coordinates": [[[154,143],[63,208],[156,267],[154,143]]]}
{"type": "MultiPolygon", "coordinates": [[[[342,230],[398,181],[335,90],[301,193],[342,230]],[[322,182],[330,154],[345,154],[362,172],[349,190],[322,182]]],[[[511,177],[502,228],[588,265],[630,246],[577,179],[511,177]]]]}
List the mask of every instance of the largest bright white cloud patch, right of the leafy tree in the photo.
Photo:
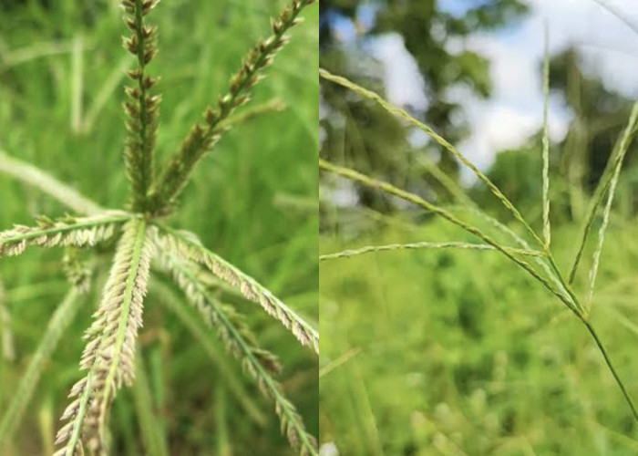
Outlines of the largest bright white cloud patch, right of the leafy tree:
{"type": "MultiPolygon", "coordinates": [[[[540,65],[544,48],[544,27],[549,26],[550,52],[568,46],[581,50],[585,68],[600,75],[608,88],[627,96],[638,95],[638,33],[593,0],[530,0],[532,12],[518,27],[497,34],[470,36],[456,49],[466,46],[489,57],[494,96],[488,101],[467,94],[452,98],[464,101],[471,136],[460,145],[468,158],[487,168],[496,152],[515,148],[542,125],[542,82],[540,65]]],[[[638,2],[607,0],[638,28],[638,2]],[[629,5],[632,3],[633,5],[629,5]]],[[[567,132],[570,113],[559,99],[551,98],[552,140],[567,132]]]]}

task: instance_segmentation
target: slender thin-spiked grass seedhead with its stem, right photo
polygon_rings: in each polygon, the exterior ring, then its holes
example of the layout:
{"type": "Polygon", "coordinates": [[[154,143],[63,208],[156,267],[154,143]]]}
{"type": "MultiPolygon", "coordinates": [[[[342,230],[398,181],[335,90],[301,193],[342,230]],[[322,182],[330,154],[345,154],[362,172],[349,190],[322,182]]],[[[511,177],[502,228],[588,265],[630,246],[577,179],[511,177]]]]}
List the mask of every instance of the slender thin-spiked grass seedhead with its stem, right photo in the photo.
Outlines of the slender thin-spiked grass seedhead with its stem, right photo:
{"type": "MultiPolygon", "coordinates": [[[[539,244],[543,246],[543,254],[534,256],[534,261],[541,266],[545,275],[540,275],[540,273],[534,268],[532,268],[530,264],[520,259],[519,255],[522,255],[523,252],[517,252],[515,254],[511,250],[508,250],[504,245],[499,244],[497,241],[489,237],[486,233],[483,233],[480,230],[478,230],[478,228],[476,228],[475,226],[461,221],[460,219],[458,219],[457,216],[455,216],[451,212],[448,212],[447,210],[441,207],[438,207],[437,205],[431,202],[427,202],[426,200],[424,200],[423,198],[421,198],[420,196],[414,193],[406,192],[387,182],[377,181],[358,171],[354,171],[348,168],[334,165],[333,163],[324,161],[323,159],[319,159],[319,167],[320,169],[323,169],[324,171],[333,172],[342,177],[345,177],[346,179],[350,181],[355,181],[371,189],[375,189],[381,192],[386,192],[389,195],[393,195],[398,198],[401,198],[405,200],[406,202],[412,202],[429,212],[433,212],[437,214],[438,216],[448,220],[448,222],[456,224],[458,227],[462,228],[466,232],[478,236],[478,238],[483,240],[486,244],[489,244],[489,246],[494,247],[501,254],[504,254],[510,260],[514,261],[516,264],[519,264],[520,267],[522,267],[537,281],[539,281],[541,285],[543,285],[546,289],[548,289],[553,295],[558,297],[561,300],[561,302],[565,306],[567,306],[571,310],[571,312],[575,316],[577,316],[579,320],[581,321],[581,323],[587,328],[596,346],[599,348],[599,351],[602,354],[602,358],[604,359],[605,364],[607,365],[607,368],[609,368],[618,387],[621,389],[625,401],[627,402],[630,409],[632,410],[633,418],[636,421],[638,421],[638,410],[633,405],[633,399],[629,395],[622,378],[620,378],[620,376],[618,375],[616,368],[614,368],[612,364],[612,360],[609,357],[607,350],[602,344],[601,338],[598,336],[594,327],[592,326],[592,323],[589,321],[589,307],[591,306],[591,294],[592,294],[593,286],[595,284],[598,264],[600,262],[600,254],[602,252],[602,243],[604,239],[604,233],[605,233],[607,224],[609,223],[613,194],[615,192],[615,187],[619,179],[621,168],[623,166],[623,160],[624,160],[625,154],[627,150],[629,149],[629,145],[631,141],[633,140],[633,136],[635,135],[636,130],[638,130],[637,129],[638,102],[634,104],[633,106],[630,119],[627,123],[626,128],[623,131],[622,139],[618,143],[617,150],[614,150],[614,152],[612,152],[610,161],[607,165],[605,172],[603,173],[598,189],[596,190],[594,200],[592,202],[592,208],[590,210],[587,222],[585,223],[585,227],[583,229],[581,244],[579,245],[579,250],[574,260],[574,264],[571,267],[569,282],[567,282],[564,280],[561,274],[561,269],[558,267],[558,264],[554,260],[550,251],[551,226],[550,226],[550,202],[549,202],[549,133],[548,133],[548,119],[547,119],[547,110],[548,110],[548,104],[549,104],[549,58],[548,58],[547,48],[548,48],[548,45],[546,41],[545,58],[544,58],[544,64],[543,64],[543,89],[544,89],[543,91],[544,91],[545,99],[544,99],[543,138],[542,138],[542,142],[543,142],[543,147],[542,147],[542,154],[543,154],[543,170],[542,170],[542,187],[543,187],[542,200],[543,201],[542,203],[543,204],[542,205],[543,205],[543,237],[545,238],[544,242],[542,242],[540,240],[540,237],[536,233],[534,233],[530,225],[525,223],[522,217],[520,217],[520,212],[511,205],[509,200],[507,200],[507,198],[505,198],[505,196],[502,195],[499,189],[496,188],[496,186],[493,183],[491,183],[487,177],[482,175],[480,171],[476,170],[474,165],[469,163],[467,159],[463,158],[463,156],[460,155],[460,152],[458,152],[458,150],[456,150],[451,144],[449,144],[447,140],[444,140],[443,138],[438,136],[437,133],[435,133],[433,130],[427,127],[427,125],[424,125],[421,122],[419,122],[417,119],[412,118],[411,116],[409,116],[409,114],[407,114],[402,109],[398,109],[392,106],[391,104],[386,102],[385,99],[379,97],[376,93],[370,92],[369,90],[366,90],[365,88],[361,88],[346,78],[334,76],[328,73],[327,71],[320,69],[320,76],[322,78],[326,78],[328,80],[334,81],[337,84],[340,84],[341,86],[345,88],[349,88],[355,93],[365,98],[374,100],[383,109],[386,109],[387,112],[394,114],[401,119],[406,119],[406,121],[408,121],[410,124],[418,127],[421,130],[426,131],[427,134],[431,138],[436,140],[438,144],[440,144],[441,146],[445,147],[447,150],[452,152],[455,156],[458,157],[460,161],[466,164],[468,168],[470,168],[472,171],[475,171],[475,173],[478,175],[478,178],[481,181],[484,181],[489,186],[492,192],[499,198],[500,202],[502,202],[506,207],[510,209],[510,212],[512,212],[515,215],[515,218],[517,218],[517,220],[519,220],[525,226],[527,231],[532,234],[532,236],[539,242],[539,244]],[[576,273],[576,270],[578,269],[578,264],[581,258],[582,251],[584,249],[584,244],[586,242],[587,235],[592,226],[594,215],[597,211],[598,206],[602,203],[602,200],[605,194],[607,194],[607,200],[606,200],[606,204],[605,204],[605,208],[604,208],[604,212],[602,216],[602,226],[599,231],[598,244],[596,246],[596,249],[594,250],[592,271],[590,273],[589,289],[586,296],[585,306],[583,306],[581,303],[581,300],[574,294],[573,290],[571,289],[571,283],[573,282],[574,275],[576,273]]],[[[517,242],[517,244],[520,244],[523,249],[530,250],[528,244],[524,240],[522,240],[516,233],[509,230],[509,228],[507,228],[504,224],[499,223],[499,221],[487,216],[484,212],[476,209],[473,204],[469,204],[468,209],[470,212],[479,215],[481,218],[488,221],[490,224],[493,224],[494,226],[499,227],[499,231],[501,231],[502,233],[509,233],[511,237],[517,242]]],[[[375,251],[375,250],[378,251],[380,249],[392,250],[395,248],[403,248],[403,246],[396,246],[396,245],[381,246],[381,247],[372,246],[372,247],[367,247],[365,249],[362,249],[359,252],[355,251],[355,254],[365,253],[366,251],[375,251]]],[[[340,253],[336,255],[347,256],[347,254],[345,253],[340,253]]]]}

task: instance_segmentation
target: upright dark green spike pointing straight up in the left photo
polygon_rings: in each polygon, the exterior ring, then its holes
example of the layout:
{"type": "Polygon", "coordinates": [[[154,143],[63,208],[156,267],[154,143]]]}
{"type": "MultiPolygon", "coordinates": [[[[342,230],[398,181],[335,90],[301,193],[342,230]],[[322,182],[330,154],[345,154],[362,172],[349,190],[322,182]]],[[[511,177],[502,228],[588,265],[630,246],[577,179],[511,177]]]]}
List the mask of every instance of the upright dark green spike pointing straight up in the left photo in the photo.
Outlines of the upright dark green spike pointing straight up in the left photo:
{"type": "Polygon", "coordinates": [[[153,154],[157,140],[160,95],[151,95],[150,89],[158,78],[146,75],[146,66],[157,53],[157,26],[148,26],[144,18],[159,0],[124,0],[124,22],[131,36],[124,38],[124,47],[138,58],[138,67],[129,71],[135,85],[127,87],[130,100],[124,103],[129,137],[124,157],[131,182],[132,208],[146,210],[147,194],[153,180],[153,154]]]}

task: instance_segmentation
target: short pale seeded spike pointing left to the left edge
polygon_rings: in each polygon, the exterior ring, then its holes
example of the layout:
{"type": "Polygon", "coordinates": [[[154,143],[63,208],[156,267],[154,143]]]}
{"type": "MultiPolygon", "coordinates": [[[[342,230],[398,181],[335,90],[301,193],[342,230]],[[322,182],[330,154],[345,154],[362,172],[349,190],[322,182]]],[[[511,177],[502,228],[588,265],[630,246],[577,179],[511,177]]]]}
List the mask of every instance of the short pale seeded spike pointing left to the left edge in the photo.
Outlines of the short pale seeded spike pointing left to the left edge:
{"type": "Polygon", "coordinates": [[[15,225],[0,233],[0,258],[22,254],[29,245],[56,247],[93,246],[106,241],[129,220],[127,212],[105,212],[93,217],[71,217],[52,220],[40,217],[37,226],[15,225]]]}

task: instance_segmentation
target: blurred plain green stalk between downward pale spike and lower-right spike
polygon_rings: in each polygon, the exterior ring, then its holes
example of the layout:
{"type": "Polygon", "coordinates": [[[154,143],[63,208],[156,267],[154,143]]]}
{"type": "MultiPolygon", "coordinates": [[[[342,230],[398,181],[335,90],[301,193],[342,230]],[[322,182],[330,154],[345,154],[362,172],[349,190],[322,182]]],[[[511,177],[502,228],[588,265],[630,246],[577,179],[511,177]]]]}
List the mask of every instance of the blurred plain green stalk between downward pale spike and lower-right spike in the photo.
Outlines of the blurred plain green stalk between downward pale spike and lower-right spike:
{"type": "Polygon", "coordinates": [[[266,417],[244,388],[242,380],[238,377],[238,374],[235,373],[235,369],[232,368],[228,358],[224,358],[221,355],[220,347],[212,342],[205,322],[192,315],[190,308],[187,308],[184,304],[184,299],[173,291],[169,285],[159,280],[153,281],[151,282],[150,292],[154,300],[159,301],[161,305],[165,306],[171,313],[177,316],[181,324],[186,327],[192,337],[203,347],[208,357],[211,358],[211,361],[224,378],[227,389],[237,402],[239,402],[243,411],[260,428],[263,428],[266,425],[266,417]],[[158,291],[157,296],[153,293],[155,289],[158,291]]]}

